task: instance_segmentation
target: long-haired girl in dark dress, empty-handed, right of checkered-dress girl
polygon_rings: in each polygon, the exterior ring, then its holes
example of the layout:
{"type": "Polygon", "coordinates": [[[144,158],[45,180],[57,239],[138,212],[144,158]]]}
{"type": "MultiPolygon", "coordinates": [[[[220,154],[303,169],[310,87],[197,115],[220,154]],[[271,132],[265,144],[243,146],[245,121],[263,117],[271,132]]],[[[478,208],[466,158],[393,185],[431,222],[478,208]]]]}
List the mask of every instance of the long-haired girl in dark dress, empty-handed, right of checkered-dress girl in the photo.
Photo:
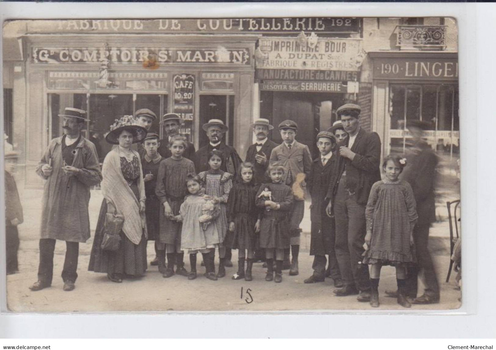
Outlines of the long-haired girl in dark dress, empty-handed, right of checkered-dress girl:
{"type": "Polygon", "coordinates": [[[227,200],[229,219],[228,245],[238,249],[238,272],[233,280],[245,279],[251,281],[251,268],[255,251],[256,236],[260,231],[259,210],[255,206],[255,196],[258,186],[253,181],[253,164],[242,163],[233,188],[227,200]],[[248,251],[247,270],[245,273],[245,249],[248,251]]]}

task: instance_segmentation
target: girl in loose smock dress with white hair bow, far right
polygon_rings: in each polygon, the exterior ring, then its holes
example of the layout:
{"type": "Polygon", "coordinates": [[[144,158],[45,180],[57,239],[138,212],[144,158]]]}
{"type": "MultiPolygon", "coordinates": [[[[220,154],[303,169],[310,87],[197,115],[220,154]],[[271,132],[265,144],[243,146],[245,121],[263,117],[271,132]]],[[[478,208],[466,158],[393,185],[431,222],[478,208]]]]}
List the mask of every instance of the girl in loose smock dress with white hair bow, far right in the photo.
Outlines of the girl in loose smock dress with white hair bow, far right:
{"type": "Polygon", "coordinates": [[[372,307],[379,306],[380,268],[391,265],[396,268],[398,304],[410,307],[405,295],[406,267],[416,263],[413,250],[413,228],[417,211],[412,187],[398,176],[406,166],[406,159],[389,155],[384,158],[382,170],[385,177],[372,185],[365,215],[367,234],[364,264],[371,265],[372,307]]]}

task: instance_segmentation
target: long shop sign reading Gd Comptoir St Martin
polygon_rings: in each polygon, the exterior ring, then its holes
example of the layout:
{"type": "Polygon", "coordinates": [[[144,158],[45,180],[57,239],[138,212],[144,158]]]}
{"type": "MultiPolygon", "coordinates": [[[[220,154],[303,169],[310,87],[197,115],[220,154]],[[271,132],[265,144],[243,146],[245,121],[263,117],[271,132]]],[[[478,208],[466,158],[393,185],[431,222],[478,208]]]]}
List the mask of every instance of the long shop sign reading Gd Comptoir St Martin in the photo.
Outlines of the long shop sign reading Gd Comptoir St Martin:
{"type": "Polygon", "coordinates": [[[32,49],[33,63],[212,63],[251,64],[249,50],[242,49],[168,49],[168,48],[40,48],[32,49]]]}

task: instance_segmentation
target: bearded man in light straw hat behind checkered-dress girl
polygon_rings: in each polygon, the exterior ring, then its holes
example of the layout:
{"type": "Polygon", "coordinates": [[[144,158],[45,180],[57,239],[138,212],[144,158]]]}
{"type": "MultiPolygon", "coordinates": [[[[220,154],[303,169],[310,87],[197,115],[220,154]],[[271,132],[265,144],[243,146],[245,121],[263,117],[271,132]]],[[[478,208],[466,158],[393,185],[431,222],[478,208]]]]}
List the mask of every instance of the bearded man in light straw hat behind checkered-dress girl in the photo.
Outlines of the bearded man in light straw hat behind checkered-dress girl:
{"type": "Polygon", "coordinates": [[[243,162],[241,157],[232,146],[222,142],[222,138],[229,128],[220,119],[210,119],[208,123],[203,124],[203,130],[208,136],[208,145],[200,147],[194,155],[194,167],[196,173],[206,172],[210,169],[208,166],[208,153],[213,150],[221,151],[224,154],[226,164],[222,164],[221,170],[230,174],[236,175],[243,162]]]}

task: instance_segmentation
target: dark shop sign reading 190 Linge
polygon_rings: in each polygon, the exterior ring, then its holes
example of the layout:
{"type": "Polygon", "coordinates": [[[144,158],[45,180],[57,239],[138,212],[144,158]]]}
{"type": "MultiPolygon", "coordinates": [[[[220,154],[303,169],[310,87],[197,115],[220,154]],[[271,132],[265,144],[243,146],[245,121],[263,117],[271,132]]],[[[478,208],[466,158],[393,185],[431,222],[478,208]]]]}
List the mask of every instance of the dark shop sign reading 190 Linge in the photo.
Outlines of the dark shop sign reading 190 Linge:
{"type": "Polygon", "coordinates": [[[457,80],[456,58],[376,58],[375,79],[457,80]]]}

